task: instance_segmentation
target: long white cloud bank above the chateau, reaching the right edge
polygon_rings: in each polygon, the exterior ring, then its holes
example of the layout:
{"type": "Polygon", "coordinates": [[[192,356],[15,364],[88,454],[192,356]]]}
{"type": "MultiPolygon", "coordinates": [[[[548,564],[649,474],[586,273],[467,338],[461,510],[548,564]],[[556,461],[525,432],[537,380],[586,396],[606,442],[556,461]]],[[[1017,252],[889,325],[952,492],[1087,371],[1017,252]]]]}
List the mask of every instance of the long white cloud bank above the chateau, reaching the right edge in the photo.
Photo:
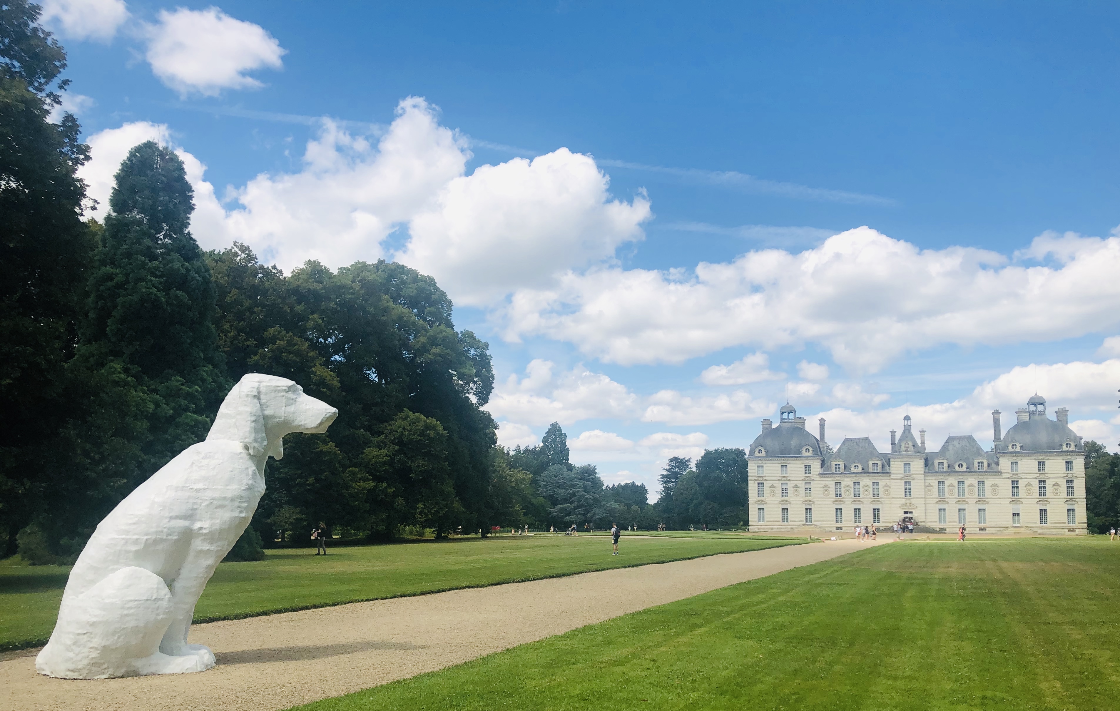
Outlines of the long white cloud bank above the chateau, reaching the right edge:
{"type": "Polygon", "coordinates": [[[681,363],[731,346],[815,343],[852,372],[937,345],[1051,342],[1120,327],[1120,237],[1042,235],[1023,259],[971,247],[920,250],[868,227],[793,254],[748,252],[680,273],[617,266],[525,289],[505,337],[576,344],[620,364],[681,363]]]}

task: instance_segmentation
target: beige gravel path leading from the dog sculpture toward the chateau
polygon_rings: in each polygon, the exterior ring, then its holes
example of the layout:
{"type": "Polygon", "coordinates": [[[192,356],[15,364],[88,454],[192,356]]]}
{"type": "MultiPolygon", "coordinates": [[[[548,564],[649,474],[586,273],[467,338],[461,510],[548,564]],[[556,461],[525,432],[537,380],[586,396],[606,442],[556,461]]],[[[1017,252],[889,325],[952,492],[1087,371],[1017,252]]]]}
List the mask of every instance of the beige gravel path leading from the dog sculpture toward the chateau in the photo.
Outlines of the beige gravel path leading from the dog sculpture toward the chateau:
{"type": "Polygon", "coordinates": [[[35,673],[38,649],[11,652],[0,655],[0,709],[287,709],[871,545],[827,541],[196,625],[190,640],[217,657],[202,674],[49,679],[35,673]]]}

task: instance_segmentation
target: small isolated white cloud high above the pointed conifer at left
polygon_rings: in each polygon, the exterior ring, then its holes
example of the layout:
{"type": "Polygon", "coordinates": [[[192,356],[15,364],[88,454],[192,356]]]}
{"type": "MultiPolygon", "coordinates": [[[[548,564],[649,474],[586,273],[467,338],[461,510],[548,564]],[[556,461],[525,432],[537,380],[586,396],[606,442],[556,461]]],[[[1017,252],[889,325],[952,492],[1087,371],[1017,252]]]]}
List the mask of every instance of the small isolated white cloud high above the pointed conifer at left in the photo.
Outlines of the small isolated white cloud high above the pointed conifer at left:
{"type": "Polygon", "coordinates": [[[180,96],[217,96],[223,88],[263,86],[246,73],[281,68],[288,52],[260,25],[213,7],[160,10],[159,21],[144,26],[144,35],[152,73],[180,96]]]}

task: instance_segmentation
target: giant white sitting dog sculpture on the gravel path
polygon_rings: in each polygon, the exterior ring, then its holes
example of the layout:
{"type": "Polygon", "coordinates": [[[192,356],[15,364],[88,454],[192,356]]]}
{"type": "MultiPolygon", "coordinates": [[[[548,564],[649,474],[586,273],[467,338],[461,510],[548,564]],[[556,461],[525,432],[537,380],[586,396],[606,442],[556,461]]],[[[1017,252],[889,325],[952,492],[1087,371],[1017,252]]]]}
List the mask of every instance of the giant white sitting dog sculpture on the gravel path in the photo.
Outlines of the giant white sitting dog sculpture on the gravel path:
{"type": "Polygon", "coordinates": [[[264,494],[281,438],[325,432],[338,417],[282,377],[251,373],[226,395],[206,441],[121,502],[71,571],[40,674],[106,679],[204,672],[214,655],[187,644],[195,604],[264,494]]]}

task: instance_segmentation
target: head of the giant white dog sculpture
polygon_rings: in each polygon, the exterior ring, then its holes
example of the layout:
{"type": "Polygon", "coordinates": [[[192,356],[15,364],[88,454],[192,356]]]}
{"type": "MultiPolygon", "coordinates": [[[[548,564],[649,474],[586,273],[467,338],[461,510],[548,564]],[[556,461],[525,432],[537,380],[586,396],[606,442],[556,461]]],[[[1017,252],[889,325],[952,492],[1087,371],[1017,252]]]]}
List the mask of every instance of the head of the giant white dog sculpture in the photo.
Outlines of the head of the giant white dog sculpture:
{"type": "Polygon", "coordinates": [[[243,443],[253,457],[283,457],[283,436],[326,432],[338,411],[296,383],[274,375],[250,373],[222,401],[207,440],[243,443]]]}

